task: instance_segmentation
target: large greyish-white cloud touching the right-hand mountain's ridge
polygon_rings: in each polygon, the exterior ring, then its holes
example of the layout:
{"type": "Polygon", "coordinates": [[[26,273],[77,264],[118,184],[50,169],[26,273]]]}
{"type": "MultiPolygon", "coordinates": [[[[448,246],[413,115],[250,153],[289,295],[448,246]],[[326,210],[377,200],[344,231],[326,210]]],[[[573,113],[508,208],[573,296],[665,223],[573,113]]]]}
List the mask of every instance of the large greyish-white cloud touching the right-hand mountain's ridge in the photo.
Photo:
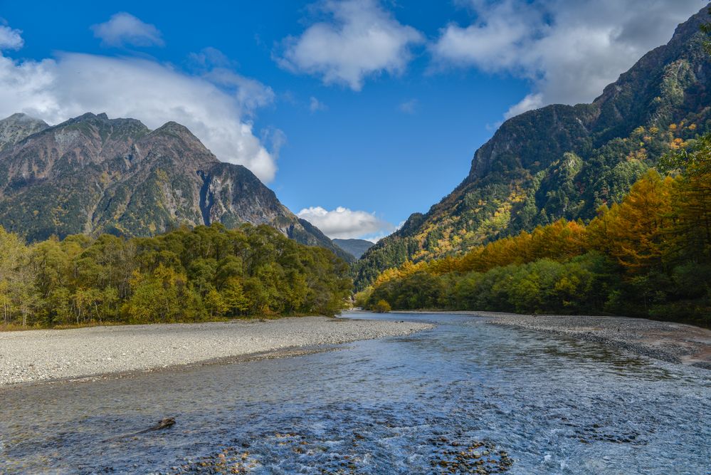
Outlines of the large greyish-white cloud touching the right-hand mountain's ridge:
{"type": "Polygon", "coordinates": [[[512,117],[551,103],[589,102],[644,53],[666,43],[701,0],[463,0],[475,15],[431,46],[439,66],[474,66],[532,81],[512,117]]]}

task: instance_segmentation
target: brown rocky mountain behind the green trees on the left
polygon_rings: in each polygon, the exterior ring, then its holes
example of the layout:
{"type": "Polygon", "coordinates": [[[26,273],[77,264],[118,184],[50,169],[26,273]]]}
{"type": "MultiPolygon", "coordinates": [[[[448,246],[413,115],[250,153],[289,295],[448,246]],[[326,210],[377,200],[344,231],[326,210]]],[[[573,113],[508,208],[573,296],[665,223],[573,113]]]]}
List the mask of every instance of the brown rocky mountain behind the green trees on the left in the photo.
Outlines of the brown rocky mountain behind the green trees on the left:
{"type": "Polygon", "coordinates": [[[220,162],[176,122],[149,130],[139,120],[87,113],[49,127],[15,114],[0,120],[0,147],[0,224],[30,241],[269,224],[352,261],[252,172],[220,162]]]}

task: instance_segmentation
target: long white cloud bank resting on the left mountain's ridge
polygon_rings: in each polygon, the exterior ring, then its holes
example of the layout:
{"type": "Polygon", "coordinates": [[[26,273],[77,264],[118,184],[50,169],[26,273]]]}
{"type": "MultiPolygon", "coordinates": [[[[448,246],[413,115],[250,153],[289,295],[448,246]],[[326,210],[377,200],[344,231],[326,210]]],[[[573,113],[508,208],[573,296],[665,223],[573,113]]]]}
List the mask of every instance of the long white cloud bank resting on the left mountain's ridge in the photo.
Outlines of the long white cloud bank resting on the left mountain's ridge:
{"type": "Polygon", "coordinates": [[[244,165],[269,182],[283,134],[270,133],[270,152],[246,118],[273,93],[236,75],[216,82],[209,75],[186,75],[139,58],[60,53],[42,61],[16,61],[0,53],[0,117],[23,112],[56,124],[85,112],[105,112],[137,118],[150,128],[174,120],[218,159],[244,165]]]}

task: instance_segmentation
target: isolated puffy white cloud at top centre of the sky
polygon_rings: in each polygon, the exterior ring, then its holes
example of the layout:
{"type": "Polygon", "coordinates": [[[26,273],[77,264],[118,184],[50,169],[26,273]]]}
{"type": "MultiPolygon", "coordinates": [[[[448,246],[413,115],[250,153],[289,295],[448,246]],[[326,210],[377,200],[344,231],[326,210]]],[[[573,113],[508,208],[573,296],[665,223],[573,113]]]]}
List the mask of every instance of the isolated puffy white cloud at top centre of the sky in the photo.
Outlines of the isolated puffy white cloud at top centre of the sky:
{"type": "Polygon", "coordinates": [[[319,9],[328,21],[312,24],[301,36],[285,38],[278,63],[320,76],[326,84],[360,90],[368,76],[400,74],[410,61],[410,46],[424,39],[384,11],[378,0],[326,0],[319,9]]]}

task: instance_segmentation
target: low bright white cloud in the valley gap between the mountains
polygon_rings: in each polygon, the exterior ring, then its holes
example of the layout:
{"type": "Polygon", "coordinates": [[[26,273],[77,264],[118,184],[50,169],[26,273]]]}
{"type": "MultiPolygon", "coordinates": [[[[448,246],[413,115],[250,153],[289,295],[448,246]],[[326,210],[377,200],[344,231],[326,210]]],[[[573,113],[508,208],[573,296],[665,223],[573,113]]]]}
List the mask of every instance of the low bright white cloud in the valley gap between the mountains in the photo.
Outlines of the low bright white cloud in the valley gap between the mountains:
{"type": "Polygon", "coordinates": [[[297,216],[309,221],[332,239],[359,238],[395,230],[395,226],[375,216],[374,213],[352,211],[344,207],[337,207],[331,211],[322,207],[304,208],[297,213],[297,216]]]}

